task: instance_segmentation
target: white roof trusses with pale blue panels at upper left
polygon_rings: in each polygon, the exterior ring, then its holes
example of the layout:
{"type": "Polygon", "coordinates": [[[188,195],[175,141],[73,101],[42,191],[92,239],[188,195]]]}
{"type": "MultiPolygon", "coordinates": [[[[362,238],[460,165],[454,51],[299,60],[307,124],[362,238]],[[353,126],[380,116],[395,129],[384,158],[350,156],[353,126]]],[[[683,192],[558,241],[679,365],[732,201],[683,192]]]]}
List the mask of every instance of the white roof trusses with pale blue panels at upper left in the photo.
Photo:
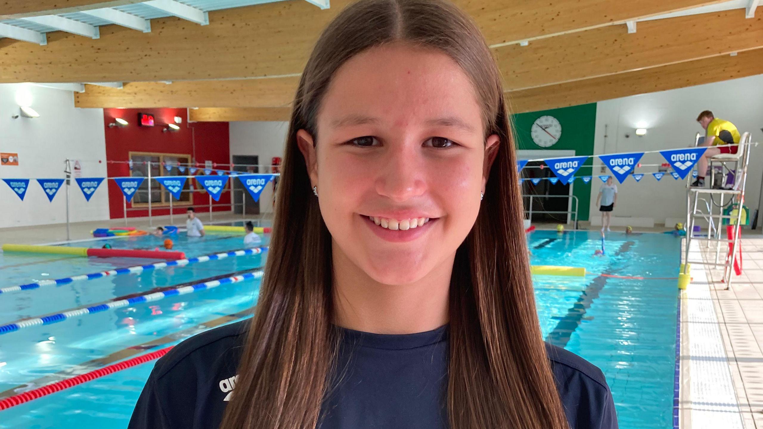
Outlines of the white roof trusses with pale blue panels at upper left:
{"type": "MultiPolygon", "coordinates": [[[[113,8],[72,8],[58,15],[14,16],[0,20],[0,37],[23,40],[33,44],[47,44],[46,34],[65,31],[82,37],[98,39],[98,27],[116,24],[135,31],[149,33],[151,20],[174,16],[199,25],[209,24],[208,11],[284,0],[150,0],[125,2],[113,8]]],[[[306,0],[321,9],[330,7],[330,0],[306,0]]],[[[113,3],[112,3],[113,4],[113,3]]]]}

